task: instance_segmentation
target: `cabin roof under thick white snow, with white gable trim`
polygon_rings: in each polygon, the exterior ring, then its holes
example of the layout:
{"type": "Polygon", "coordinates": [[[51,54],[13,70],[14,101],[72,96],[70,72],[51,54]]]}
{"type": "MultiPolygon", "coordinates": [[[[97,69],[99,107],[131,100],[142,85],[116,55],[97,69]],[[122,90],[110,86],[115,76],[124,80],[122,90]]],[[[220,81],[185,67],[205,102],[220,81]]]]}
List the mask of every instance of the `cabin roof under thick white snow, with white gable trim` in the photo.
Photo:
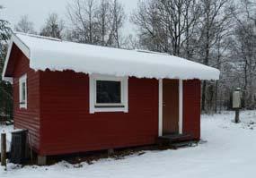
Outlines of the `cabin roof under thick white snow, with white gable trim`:
{"type": "Polygon", "coordinates": [[[30,59],[34,70],[99,73],[156,79],[218,80],[219,71],[174,55],[99,47],[56,38],[13,34],[4,64],[4,73],[13,43],[30,59]]]}

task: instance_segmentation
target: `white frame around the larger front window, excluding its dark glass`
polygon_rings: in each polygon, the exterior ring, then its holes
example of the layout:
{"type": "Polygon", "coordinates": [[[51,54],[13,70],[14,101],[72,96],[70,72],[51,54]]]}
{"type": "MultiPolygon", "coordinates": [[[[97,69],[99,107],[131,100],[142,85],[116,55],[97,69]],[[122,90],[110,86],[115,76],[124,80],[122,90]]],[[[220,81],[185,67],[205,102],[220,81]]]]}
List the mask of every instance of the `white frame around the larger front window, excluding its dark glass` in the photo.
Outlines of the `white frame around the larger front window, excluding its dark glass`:
{"type": "Polygon", "coordinates": [[[89,76],[90,92],[90,114],[96,112],[124,112],[128,113],[128,77],[114,77],[102,74],[91,74],[89,76]],[[96,103],[96,81],[120,81],[121,82],[121,103],[120,104],[97,104],[96,103]],[[97,107],[100,106],[100,107],[97,107]],[[106,106],[106,107],[104,107],[106,106]]]}

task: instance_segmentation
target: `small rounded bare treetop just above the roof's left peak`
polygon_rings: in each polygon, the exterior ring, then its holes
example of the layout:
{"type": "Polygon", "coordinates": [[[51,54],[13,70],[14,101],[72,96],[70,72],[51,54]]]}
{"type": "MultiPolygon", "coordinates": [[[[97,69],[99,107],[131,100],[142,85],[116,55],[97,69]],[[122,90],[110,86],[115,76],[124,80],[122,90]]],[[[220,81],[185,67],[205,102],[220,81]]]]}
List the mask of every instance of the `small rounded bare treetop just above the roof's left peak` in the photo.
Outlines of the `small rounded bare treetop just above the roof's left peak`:
{"type": "Polygon", "coordinates": [[[28,15],[23,15],[20,21],[14,26],[15,31],[36,34],[33,22],[29,21],[28,15]]]}

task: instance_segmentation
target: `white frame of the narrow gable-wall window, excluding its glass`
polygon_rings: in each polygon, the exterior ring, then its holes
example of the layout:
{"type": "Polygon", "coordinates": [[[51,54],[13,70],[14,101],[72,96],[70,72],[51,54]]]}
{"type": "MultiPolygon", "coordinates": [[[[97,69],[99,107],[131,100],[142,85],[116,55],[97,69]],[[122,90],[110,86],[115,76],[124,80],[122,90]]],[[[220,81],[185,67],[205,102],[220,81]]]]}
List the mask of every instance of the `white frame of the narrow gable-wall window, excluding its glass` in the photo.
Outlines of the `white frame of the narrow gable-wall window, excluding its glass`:
{"type": "Polygon", "coordinates": [[[27,108],[28,105],[28,85],[27,85],[27,74],[22,75],[19,79],[19,104],[20,108],[27,108]],[[25,83],[25,100],[22,100],[22,83],[25,83]]]}

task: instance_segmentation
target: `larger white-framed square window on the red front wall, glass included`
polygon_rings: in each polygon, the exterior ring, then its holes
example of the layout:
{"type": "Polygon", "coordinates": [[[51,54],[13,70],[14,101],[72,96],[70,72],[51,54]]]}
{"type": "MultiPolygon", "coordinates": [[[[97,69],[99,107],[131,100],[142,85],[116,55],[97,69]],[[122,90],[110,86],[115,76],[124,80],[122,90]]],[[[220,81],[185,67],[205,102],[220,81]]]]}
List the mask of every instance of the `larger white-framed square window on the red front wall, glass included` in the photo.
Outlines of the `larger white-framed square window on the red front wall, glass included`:
{"type": "Polygon", "coordinates": [[[90,113],[128,112],[128,78],[90,75],[90,113]]]}

